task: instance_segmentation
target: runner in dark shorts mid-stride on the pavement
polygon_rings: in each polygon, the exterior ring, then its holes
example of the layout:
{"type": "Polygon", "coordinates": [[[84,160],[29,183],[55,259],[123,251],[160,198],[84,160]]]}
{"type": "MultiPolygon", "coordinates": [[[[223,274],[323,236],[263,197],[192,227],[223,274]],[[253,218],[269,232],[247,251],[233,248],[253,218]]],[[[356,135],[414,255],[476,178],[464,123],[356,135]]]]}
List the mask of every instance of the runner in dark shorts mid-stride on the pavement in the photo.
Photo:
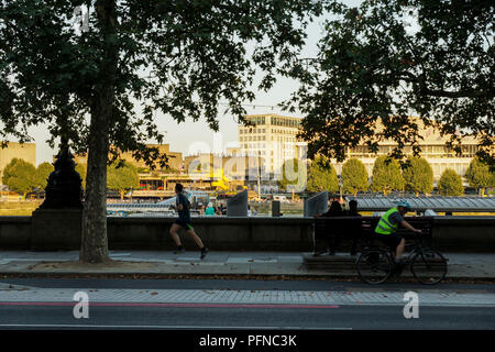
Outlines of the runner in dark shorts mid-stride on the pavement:
{"type": "Polygon", "coordinates": [[[202,244],[201,239],[196,234],[195,229],[193,228],[191,221],[190,221],[190,201],[187,199],[187,197],[183,194],[184,186],[180,184],[175,185],[175,193],[176,193],[176,206],[177,206],[177,212],[179,218],[175,220],[175,222],[170,227],[170,235],[174,240],[175,244],[177,245],[177,250],[175,253],[184,253],[185,250],[183,248],[183,244],[180,243],[180,238],[178,237],[178,230],[183,228],[186,230],[187,234],[189,234],[195,243],[198,245],[198,248],[201,250],[200,258],[202,260],[207,253],[208,248],[206,248],[202,244]]]}

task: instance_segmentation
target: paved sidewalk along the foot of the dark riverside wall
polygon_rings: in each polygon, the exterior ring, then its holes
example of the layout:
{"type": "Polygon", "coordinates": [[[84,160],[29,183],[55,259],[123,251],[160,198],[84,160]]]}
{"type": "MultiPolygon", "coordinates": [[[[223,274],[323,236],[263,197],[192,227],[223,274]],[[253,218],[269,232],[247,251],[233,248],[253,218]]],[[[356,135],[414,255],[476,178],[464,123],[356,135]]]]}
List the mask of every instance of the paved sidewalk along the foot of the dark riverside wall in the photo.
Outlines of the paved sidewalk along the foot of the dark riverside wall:
{"type": "MultiPolygon", "coordinates": [[[[307,254],[307,253],[306,253],[307,254]]],[[[285,275],[356,277],[355,268],[308,270],[300,252],[110,251],[113,262],[84,264],[79,252],[0,251],[0,275],[285,275]]],[[[344,254],[338,254],[344,255],[344,254]]],[[[444,253],[449,278],[495,279],[495,254],[444,253]]],[[[404,271],[403,276],[409,276],[404,271]]]]}

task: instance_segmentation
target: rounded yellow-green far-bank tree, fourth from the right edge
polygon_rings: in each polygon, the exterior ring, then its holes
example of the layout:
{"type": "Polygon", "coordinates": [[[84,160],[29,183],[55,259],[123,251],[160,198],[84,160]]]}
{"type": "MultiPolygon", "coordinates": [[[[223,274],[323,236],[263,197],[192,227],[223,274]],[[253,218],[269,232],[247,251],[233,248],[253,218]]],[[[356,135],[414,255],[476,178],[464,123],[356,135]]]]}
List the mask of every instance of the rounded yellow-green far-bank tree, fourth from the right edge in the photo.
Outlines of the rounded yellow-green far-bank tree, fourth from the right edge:
{"type": "Polygon", "coordinates": [[[386,155],[381,155],[373,165],[373,178],[371,189],[382,191],[385,196],[392,190],[404,189],[405,182],[400,172],[400,164],[386,155]]]}

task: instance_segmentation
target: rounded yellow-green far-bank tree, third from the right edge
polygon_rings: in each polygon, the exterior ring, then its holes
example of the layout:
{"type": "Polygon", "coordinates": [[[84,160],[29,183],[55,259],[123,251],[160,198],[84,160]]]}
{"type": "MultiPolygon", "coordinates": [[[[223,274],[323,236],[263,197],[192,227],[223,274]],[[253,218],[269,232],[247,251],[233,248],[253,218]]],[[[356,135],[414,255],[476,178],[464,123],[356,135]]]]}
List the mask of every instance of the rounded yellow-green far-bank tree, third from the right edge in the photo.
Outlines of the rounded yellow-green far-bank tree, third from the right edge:
{"type": "Polygon", "coordinates": [[[420,193],[430,194],[433,190],[433,169],[426,158],[409,157],[403,176],[406,189],[414,191],[416,196],[420,193]]]}

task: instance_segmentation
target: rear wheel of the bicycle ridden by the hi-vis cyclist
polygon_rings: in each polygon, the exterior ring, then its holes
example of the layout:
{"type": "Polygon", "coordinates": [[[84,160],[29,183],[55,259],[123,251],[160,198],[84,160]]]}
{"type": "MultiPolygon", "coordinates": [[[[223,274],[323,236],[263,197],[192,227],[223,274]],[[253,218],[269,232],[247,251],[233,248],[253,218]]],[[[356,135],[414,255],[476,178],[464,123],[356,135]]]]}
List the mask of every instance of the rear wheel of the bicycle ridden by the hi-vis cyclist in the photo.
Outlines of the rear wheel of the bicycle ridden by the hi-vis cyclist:
{"type": "Polygon", "coordinates": [[[356,262],[360,278],[367,284],[382,284],[393,272],[391,256],[385,251],[371,250],[363,252],[356,262]]]}

